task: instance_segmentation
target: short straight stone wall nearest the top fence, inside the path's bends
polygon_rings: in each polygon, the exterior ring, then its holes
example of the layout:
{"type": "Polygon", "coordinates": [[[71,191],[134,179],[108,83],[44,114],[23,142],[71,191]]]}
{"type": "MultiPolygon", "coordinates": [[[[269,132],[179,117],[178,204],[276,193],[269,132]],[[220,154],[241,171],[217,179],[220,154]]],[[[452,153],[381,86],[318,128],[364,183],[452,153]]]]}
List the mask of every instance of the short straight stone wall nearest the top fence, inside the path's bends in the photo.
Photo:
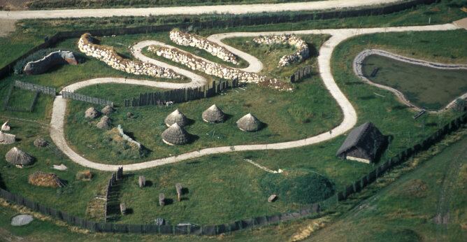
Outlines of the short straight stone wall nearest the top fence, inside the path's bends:
{"type": "Polygon", "coordinates": [[[219,57],[225,62],[231,62],[236,65],[239,64],[236,55],[234,55],[232,52],[227,50],[227,48],[217,45],[217,43],[208,41],[206,38],[202,36],[198,36],[196,34],[184,33],[177,29],[173,29],[169,35],[173,43],[176,43],[178,45],[183,45],[183,46],[192,46],[192,47],[196,47],[202,50],[206,50],[211,55],[214,55],[215,57],[219,57]]]}

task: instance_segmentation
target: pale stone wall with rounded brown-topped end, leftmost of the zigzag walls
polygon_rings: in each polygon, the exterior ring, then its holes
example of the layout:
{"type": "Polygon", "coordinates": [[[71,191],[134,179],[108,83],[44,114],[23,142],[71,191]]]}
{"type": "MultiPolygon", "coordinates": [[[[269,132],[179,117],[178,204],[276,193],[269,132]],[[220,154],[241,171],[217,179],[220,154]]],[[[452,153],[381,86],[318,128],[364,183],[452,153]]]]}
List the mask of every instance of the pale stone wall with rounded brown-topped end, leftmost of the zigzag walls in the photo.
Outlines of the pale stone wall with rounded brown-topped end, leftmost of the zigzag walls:
{"type": "Polygon", "coordinates": [[[171,69],[166,69],[155,64],[143,63],[124,59],[113,50],[113,48],[105,45],[96,45],[92,43],[93,38],[90,34],[83,34],[78,41],[78,48],[87,56],[97,58],[113,69],[125,71],[135,75],[153,76],[156,78],[182,78],[171,69]]]}

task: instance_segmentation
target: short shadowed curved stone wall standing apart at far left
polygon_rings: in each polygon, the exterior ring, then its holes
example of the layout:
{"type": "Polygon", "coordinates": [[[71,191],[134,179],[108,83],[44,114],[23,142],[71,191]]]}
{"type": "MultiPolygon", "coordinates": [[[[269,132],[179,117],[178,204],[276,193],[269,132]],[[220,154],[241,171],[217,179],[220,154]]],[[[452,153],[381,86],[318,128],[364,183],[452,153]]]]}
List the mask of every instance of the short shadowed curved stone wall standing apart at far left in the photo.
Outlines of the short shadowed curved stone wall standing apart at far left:
{"type": "Polygon", "coordinates": [[[77,65],[78,62],[76,61],[73,52],[58,50],[50,52],[49,55],[46,55],[42,59],[38,59],[34,62],[28,62],[26,66],[24,66],[23,71],[27,75],[38,75],[59,64],[77,65]]]}

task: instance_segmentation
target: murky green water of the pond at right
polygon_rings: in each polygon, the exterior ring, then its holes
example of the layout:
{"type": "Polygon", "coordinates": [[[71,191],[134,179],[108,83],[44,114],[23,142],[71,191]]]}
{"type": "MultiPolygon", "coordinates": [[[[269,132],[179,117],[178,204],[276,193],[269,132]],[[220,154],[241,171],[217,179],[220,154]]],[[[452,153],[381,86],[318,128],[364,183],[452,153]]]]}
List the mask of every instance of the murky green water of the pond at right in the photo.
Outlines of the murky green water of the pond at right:
{"type": "Polygon", "coordinates": [[[467,92],[467,70],[443,70],[370,55],[362,71],[373,83],[401,91],[405,98],[427,110],[438,110],[467,92]],[[373,70],[378,73],[371,77],[373,70]]]}

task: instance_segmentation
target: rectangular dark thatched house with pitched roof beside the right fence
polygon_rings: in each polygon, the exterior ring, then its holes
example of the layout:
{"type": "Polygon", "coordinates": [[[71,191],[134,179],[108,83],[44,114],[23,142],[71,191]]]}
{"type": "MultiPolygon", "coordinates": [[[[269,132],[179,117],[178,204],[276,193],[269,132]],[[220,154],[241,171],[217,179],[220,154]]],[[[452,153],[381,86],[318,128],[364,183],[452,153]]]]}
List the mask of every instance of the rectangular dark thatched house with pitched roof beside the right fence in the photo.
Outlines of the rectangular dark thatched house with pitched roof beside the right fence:
{"type": "Polygon", "coordinates": [[[350,132],[336,155],[342,159],[371,163],[385,142],[386,138],[380,130],[373,123],[366,122],[350,132]]]}

